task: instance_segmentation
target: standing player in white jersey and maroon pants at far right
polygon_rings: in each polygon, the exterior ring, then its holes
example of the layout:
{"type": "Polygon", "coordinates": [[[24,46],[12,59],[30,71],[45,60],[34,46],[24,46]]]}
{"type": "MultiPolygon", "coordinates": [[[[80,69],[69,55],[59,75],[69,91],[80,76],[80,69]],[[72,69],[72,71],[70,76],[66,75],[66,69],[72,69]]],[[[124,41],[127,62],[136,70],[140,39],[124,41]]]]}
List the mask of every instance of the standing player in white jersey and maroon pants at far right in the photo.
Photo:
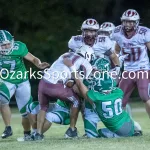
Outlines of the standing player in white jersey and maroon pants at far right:
{"type": "Polygon", "coordinates": [[[150,116],[150,89],[149,89],[149,58],[147,49],[150,50],[150,30],[139,26],[139,14],[136,10],[129,9],[121,17],[122,25],[117,26],[112,34],[116,41],[116,53],[127,54],[124,59],[124,72],[119,87],[124,91],[123,107],[137,86],[141,99],[146,104],[150,116]]]}

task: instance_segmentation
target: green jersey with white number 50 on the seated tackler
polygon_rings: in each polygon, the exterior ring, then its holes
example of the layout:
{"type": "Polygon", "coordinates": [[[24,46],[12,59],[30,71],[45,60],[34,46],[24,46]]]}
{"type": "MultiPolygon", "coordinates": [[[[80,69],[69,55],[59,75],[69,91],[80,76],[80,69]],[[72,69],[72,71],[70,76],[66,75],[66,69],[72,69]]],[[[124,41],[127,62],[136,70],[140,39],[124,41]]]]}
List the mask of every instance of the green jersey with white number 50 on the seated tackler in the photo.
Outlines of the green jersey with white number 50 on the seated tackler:
{"type": "Polygon", "coordinates": [[[122,109],[121,89],[116,88],[110,94],[89,91],[88,96],[95,103],[101,121],[111,131],[117,131],[125,122],[130,121],[129,115],[122,109]]]}

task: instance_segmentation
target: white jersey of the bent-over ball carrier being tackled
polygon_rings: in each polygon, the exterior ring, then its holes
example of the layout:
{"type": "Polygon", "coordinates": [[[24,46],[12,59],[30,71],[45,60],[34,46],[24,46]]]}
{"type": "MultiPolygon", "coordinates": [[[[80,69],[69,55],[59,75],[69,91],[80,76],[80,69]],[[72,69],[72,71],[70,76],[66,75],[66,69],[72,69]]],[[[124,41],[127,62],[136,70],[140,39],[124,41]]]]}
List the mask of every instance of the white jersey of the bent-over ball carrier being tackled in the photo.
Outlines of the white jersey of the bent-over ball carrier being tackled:
{"type": "Polygon", "coordinates": [[[71,78],[70,69],[63,63],[64,58],[69,58],[72,60],[72,64],[75,66],[76,70],[79,70],[83,66],[83,71],[85,77],[88,77],[92,71],[92,66],[90,63],[74,52],[68,52],[61,55],[47,70],[44,74],[44,78],[49,80],[51,83],[56,84],[57,81],[62,80],[65,83],[71,78]]]}

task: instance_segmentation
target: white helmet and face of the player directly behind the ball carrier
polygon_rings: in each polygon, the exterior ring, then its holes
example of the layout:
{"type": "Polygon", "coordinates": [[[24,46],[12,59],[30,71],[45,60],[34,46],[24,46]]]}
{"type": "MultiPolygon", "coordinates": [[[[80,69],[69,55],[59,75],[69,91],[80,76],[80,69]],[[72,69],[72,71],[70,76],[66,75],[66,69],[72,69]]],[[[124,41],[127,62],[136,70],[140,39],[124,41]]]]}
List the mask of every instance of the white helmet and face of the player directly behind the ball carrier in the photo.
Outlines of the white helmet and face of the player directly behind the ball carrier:
{"type": "Polygon", "coordinates": [[[99,24],[95,19],[87,19],[82,23],[81,26],[82,36],[85,44],[93,46],[95,38],[98,35],[99,24]]]}

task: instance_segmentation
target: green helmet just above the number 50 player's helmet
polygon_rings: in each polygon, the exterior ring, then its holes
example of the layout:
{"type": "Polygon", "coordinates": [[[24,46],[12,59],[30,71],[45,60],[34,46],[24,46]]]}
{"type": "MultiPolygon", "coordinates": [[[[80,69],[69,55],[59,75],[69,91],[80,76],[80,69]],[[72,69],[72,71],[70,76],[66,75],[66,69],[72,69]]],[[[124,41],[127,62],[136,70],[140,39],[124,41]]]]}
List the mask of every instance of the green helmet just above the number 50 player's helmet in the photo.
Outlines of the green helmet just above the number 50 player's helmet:
{"type": "Polygon", "coordinates": [[[105,58],[98,58],[92,62],[93,69],[96,69],[100,72],[110,71],[109,60],[105,58]]]}

